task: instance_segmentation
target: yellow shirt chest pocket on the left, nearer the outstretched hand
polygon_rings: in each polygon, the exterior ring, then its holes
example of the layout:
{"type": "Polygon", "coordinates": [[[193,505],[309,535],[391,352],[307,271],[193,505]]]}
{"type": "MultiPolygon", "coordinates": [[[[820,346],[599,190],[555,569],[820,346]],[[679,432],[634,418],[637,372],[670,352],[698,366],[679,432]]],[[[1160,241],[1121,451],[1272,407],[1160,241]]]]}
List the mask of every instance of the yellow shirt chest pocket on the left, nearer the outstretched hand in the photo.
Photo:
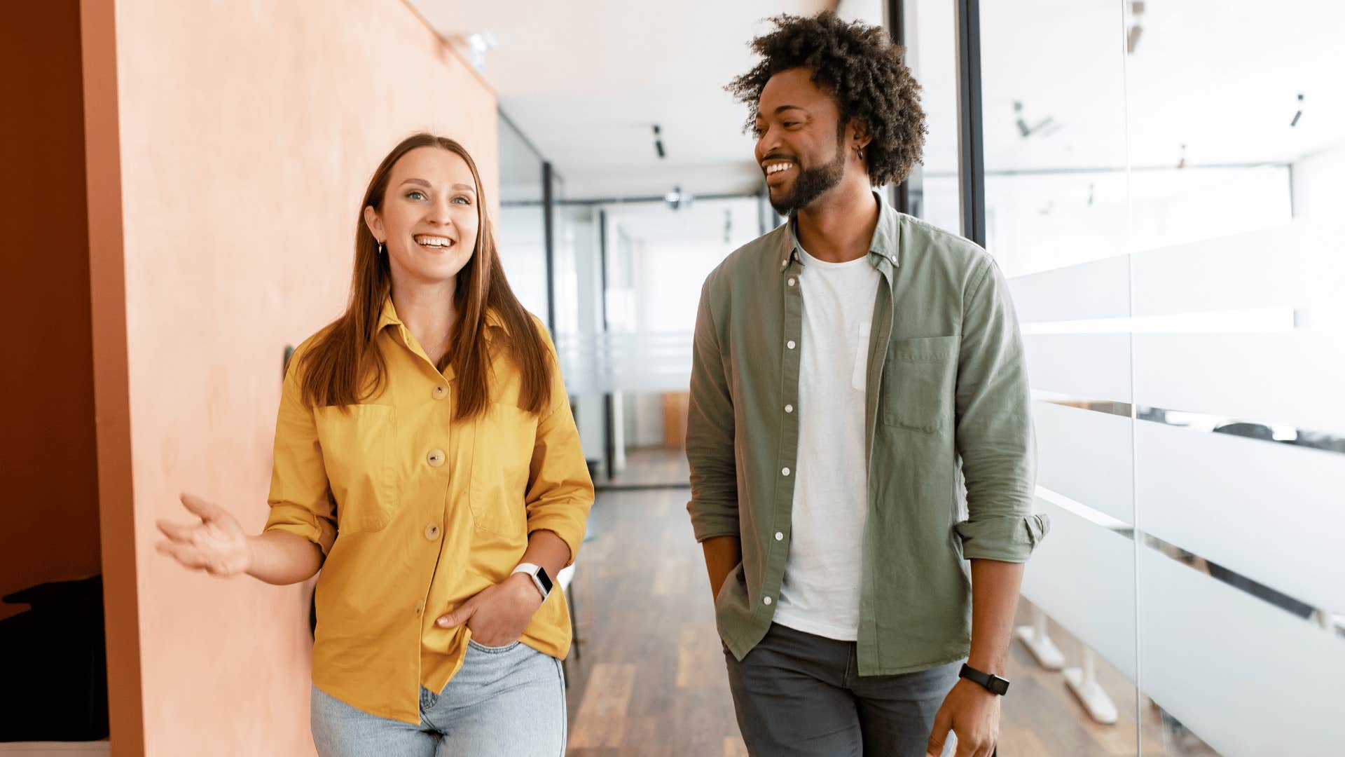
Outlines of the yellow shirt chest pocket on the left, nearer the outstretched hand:
{"type": "Polygon", "coordinates": [[[382,531],[397,512],[397,408],[379,404],[313,409],[338,533],[382,531]]]}

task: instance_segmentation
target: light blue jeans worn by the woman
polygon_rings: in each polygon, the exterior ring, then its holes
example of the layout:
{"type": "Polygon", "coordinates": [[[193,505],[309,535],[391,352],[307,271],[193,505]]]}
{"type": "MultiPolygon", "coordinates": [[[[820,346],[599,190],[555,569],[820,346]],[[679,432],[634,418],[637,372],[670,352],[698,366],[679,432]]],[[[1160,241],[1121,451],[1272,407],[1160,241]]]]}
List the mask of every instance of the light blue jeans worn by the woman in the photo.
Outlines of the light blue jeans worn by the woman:
{"type": "Polygon", "coordinates": [[[421,722],[370,715],[313,687],[321,757],[545,757],[565,754],[561,661],[515,641],[468,641],[463,669],[441,694],[421,687],[421,722]]]}

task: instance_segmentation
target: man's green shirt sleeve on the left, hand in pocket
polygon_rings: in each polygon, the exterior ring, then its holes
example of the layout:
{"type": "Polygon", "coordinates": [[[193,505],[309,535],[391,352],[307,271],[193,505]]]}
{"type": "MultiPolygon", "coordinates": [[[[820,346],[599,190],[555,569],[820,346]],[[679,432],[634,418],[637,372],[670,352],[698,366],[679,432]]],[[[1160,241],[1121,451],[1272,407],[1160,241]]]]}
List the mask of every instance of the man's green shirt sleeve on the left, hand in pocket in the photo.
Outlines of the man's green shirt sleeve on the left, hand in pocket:
{"type": "Polygon", "coordinates": [[[709,292],[710,282],[706,280],[695,312],[686,430],[686,459],[691,469],[691,501],[686,509],[691,515],[697,541],[740,536],[733,397],[724,376],[709,292]]]}

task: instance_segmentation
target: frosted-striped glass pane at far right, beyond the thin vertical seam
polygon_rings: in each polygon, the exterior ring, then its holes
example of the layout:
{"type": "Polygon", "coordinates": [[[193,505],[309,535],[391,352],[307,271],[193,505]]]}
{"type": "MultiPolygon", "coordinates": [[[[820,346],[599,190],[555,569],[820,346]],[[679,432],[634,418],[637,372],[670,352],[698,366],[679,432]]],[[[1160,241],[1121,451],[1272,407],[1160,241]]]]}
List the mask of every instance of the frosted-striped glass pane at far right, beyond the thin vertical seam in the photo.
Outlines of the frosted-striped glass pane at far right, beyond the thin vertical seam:
{"type": "Polygon", "coordinates": [[[1272,304],[1295,312],[1290,327],[1255,338],[1240,334],[1236,311],[1220,318],[1223,333],[1134,337],[1142,412],[1212,431],[1185,432],[1186,467],[1158,454],[1161,434],[1137,435],[1137,459],[1146,461],[1135,469],[1137,517],[1149,533],[1141,687],[1166,726],[1145,734],[1146,752],[1330,754],[1345,738],[1345,695],[1317,680],[1321,669],[1345,668],[1334,622],[1345,610],[1345,556],[1299,548],[1305,532],[1345,527],[1338,506],[1317,505],[1338,502],[1345,465],[1329,449],[1295,443],[1298,427],[1314,430],[1306,442],[1345,435],[1330,396],[1345,381],[1345,334],[1297,315],[1345,299],[1338,249],[1318,241],[1336,234],[1310,230],[1323,220],[1338,229],[1345,199],[1345,9],[1290,3],[1235,23],[1258,7],[1126,8],[1127,28],[1139,30],[1126,54],[1134,302],[1173,314],[1272,304]],[[1165,348],[1177,345],[1202,365],[1228,366],[1202,376],[1213,391],[1169,368],[1181,353],[1165,348]],[[1235,481],[1255,469],[1254,485],[1212,490],[1206,471],[1220,463],[1235,481]]]}

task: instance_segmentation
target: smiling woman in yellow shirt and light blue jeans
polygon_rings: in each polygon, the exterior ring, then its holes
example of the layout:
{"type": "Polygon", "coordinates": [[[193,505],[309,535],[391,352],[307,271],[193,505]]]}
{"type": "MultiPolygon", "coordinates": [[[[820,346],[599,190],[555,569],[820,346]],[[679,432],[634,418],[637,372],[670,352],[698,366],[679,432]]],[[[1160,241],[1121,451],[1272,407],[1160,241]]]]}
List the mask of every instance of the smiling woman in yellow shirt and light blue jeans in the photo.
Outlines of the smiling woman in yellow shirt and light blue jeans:
{"type": "Polygon", "coordinates": [[[413,135],[383,159],[350,304],[285,376],[266,529],[247,536],[186,494],[200,523],[160,521],[159,550],[213,575],[296,583],[321,568],[324,756],[564,749],[572,626],[550,577],[573,563],[593,485],[555,349],[504,279],[483,195],[451,139],[413,135]]]}

